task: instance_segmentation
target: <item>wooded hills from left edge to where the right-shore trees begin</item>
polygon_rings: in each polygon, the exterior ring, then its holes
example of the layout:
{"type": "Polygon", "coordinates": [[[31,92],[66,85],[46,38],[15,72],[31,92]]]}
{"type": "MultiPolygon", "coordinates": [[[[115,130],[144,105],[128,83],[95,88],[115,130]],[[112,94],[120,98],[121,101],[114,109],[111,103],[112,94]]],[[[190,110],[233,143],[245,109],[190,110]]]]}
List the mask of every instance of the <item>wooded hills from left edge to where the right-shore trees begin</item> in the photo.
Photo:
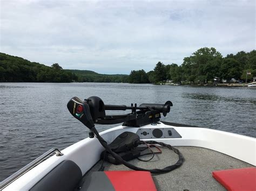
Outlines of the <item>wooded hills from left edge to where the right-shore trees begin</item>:
{"type": "Polygon", "coordinates": [[[128,82],[129,75],[98,74],[91,70],[62,69],[0,53],[0,82],[128,82]]]}

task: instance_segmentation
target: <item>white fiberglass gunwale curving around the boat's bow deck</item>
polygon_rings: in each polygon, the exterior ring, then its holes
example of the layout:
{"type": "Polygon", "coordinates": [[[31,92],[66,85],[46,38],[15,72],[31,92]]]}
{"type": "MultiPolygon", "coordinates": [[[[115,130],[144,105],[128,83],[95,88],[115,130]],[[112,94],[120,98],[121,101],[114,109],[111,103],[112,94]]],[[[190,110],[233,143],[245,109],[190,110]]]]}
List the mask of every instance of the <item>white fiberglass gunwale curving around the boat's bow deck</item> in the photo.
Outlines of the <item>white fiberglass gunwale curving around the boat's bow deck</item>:
{"type": "MultiPolygon", "coordinates": [[[[157,125],[145,125],[142,128],[117,126],[103,132],[100,135],[108,142],[112,142],[120,133],[130,131],[136,133],[138,129],[161,129],[171,128],[181,136],[179,138],[150,138],[172,146],[196,146],[208,148],[230,155],[251,165],[256,165],[256,140],[252,137],[237,135],[234,133],[196,127],[171,126],[159,123],[157,125]]],[[[143,139],[142,139],[143,140],[143,139]]],[[[29,190],[54,167],[63,160],[75,162],[84,175],[100,159],[100,153],[104,150],[96,138],[86,138],[80,142],[65,148],[62,156],[53,155],[41,164],[32,168],[21,177],[10,183],[3,190],[29,190]]]]}

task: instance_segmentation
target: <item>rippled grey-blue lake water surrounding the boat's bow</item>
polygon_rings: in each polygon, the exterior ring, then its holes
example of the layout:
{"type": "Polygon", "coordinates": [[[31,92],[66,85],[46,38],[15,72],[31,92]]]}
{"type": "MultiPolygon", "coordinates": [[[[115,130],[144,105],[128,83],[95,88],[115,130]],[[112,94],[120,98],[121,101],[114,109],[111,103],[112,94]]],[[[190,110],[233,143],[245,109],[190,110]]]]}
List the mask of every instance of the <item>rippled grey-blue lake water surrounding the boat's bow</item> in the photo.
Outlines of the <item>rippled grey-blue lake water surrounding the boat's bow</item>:
{"type": "MultiPolygon", "coordinates": [[[[88,136],[66,104],[99,96],[105,104],[165,103],[162,121],[256,137],[256,89],[126,83],[0,83],[0,181],[52,147],[88,136]]],[[[112,126],[97,125],[99,131],[112,126]]]]}

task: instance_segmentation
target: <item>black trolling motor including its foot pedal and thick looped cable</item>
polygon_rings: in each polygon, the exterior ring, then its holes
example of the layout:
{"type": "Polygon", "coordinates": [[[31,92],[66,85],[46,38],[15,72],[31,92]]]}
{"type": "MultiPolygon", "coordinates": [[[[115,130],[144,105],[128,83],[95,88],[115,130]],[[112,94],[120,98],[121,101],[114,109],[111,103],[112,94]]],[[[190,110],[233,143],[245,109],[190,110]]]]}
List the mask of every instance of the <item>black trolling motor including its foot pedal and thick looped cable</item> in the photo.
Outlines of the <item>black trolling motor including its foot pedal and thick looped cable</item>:
{"type": "MultiPolygon", "coordinates": [[[[82,122],[87,128],[91,130],[89,137],[96,137],[100,144],[105,148],[107,153],[108,161],[113,164],[124,164],[126,167],[134,169],[136,171],[149,171],[151,173],[164,173],[170,172],[173,169],[183,164],[183,155],[177,148],[172,147],[164,143],[149,141],[148,144],[159,144],[166,146],[170,150],[174,151],[179,155],[179,160],[176,164],[167,166],[163,169],[144,169],[136,167],[127,160],[131,160],[140,155],[140,152],[136,149],[139,144],[142,144],[139,140],[139,136],[136,133],[124,132],[119,135],[111,144],[107,142],[99,135],[95,128],[96,124],[117,124],[123,123],[125,126],[140,127],[146,124],[154,124],[160,121],[160,114],[166,116],[170,112],[172,106],[171,101],[167,101],[165,104],[152,104],[143,103],[137,107],[137,104],[131,104],[130,107],[126,105],[105,105],[102,99],[97,96],[92,96],[84,101],[78,97],[73,97],[68,102],[67,107],[71,115],[82,122]],[[132,110],[130,114],[126,115],[109,115],[105,114],[106,110],[132,110]],[[119,153],[119,154],[118,154],[119,153]]],[[[145,142],[144,142],[145,143],[145,142]]],[[[105,154],[104,154],[105,155],[105,154]]]]}

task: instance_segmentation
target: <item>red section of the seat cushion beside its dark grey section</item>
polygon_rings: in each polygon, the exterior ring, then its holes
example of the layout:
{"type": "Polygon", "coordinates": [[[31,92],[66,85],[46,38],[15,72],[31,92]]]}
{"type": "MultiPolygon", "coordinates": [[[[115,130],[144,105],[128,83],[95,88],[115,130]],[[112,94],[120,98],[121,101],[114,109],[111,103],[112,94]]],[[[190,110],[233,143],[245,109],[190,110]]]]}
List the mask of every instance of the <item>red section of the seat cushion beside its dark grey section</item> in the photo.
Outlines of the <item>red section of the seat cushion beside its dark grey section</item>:
{"type": "Polygon", "coordinates": [[[151,173],[146,171],[104,171],[115,190],[152,190],[156,186],[151,173]]]}

